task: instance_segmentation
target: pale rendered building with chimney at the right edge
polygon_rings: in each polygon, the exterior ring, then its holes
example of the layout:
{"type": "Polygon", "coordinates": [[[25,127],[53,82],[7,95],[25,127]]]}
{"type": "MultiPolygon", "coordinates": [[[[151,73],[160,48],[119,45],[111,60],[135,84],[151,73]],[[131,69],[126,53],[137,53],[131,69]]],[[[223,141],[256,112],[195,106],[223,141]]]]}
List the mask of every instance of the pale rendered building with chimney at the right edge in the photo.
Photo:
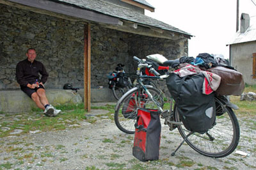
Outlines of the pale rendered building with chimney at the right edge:
{"type": "Polygon", "coordinates": [[[240,29],[229,44],[230,63],[243,73],[246,84],[256,84],[256,16],[241,14],[240,29]]]}

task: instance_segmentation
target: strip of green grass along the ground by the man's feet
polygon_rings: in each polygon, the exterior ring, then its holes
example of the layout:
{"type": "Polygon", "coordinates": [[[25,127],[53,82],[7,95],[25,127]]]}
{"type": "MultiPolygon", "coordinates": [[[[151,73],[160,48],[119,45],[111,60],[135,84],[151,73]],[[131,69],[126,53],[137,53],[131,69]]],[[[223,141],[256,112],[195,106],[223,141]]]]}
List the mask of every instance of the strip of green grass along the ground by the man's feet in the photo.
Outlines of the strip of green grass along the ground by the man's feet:
{"type": "MultiPolygon", "coordinates": [[[[16,128],[22,125],[22,130],[20,134],[28,134],[29,131],[40,130],[42,132],[52,131],[52,130],[65,130],[69,125],[79,124],[81,121],[87,121],[89,123],[95,123],[97,118],[95,116],[86,116],[86,111],[84,111],[84,104],[76,105],[56,105],[57,109],[61,109],[61,114],[56,117],[42,116],[42,111],[38,108],[33,108],[31,115],[24,115],[19,121],[3,121],[1,122],[1,127],[9,127],[10,130],[0,130],[0,137],[6,137],[10,135],[16,128]],[[36,112],[36,113],[35,113],[36,112]],[[68,121],[66,121],[68,120],[68,121]],[[72,121],[70,121],[72,120],[72,121]],[[12,124],[11,124],[12,123],[12,124]]],[[[115,112],[115,105],[105,105],[102,107],[92,107],[92,109],[104,109],[109,111],[108,114],[111,120],[113,120],[113,113],[115,112]]],[[[0,112],[2,113],[2,112],[0,112]]],[[[4,113],[5,117],[11,117],[13,114],[4,113]]],[[[99,116],[100,117],[100,116],[99,116]]],[[[15,142],[19,143],[19,142],[15,142]]]]}

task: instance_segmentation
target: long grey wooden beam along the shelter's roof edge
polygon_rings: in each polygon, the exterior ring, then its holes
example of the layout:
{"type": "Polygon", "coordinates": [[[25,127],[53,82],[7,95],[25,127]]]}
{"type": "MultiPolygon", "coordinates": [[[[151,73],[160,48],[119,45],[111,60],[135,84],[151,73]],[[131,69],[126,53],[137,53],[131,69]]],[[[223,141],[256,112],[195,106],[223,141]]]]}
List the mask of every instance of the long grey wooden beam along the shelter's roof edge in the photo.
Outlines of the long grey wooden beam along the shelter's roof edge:
{"type": "Polygon", "coordinates": [[[27,8],[28,10],[30,10],[29,8],[33,8],[34,10],[31,10],[33,12],[37,12],[38,10],[42,12],[42,10],[44,10],[45,14],[47,14],[47,12],[54,12],[104,24],[120,24],[120,20],[116,17],[103,15],[97,12],[79,8],[78,6],[72,6],[71,4],[67,3],[56,3],[54,1],[48,0],[0,0],[0,3],[8,4],[11,6],[17,6],[17,4],[22,4],[22,6],[24,6],[24,8],[27,8]]]}

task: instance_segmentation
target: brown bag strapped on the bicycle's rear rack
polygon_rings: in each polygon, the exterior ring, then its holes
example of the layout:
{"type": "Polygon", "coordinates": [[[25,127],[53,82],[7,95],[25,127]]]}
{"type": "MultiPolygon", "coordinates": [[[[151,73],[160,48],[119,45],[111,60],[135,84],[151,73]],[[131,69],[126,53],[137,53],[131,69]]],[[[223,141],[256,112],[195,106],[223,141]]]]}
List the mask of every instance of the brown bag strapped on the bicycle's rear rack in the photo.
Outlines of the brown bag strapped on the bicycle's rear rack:
{"type": "Polygon", "coordinates": [[[243,93],[245,84],[242,73],[224,66],[212,67],[207,71],[216,73],[221,77],[220,86],[216,90],[219,95],[239,96],[243,93]]]}

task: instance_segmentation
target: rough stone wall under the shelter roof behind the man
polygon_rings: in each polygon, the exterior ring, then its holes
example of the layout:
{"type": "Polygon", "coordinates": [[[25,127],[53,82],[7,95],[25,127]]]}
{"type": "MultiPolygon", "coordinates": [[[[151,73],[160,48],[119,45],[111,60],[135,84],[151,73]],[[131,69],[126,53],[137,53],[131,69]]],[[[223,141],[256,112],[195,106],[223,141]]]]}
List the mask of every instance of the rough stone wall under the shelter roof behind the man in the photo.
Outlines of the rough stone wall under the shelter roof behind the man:
{"type": "MultiPolygon", "coordinates": [[[[15,66],[34,47],[37,60],[49,72],[46,87],[61,89],[69,82],[83,88],[84,24],[48,15],[28,12],[0,4],[0,90],[19,89],[15,66]]],[[[168,59],[186,56],[188,40],[168,40],[124,33],[97,24],[91,27],[92,88],[108,87],[106,75],[118,63],[125,71],[135,73],[132,56],[163,54],[168,59]]]]}

